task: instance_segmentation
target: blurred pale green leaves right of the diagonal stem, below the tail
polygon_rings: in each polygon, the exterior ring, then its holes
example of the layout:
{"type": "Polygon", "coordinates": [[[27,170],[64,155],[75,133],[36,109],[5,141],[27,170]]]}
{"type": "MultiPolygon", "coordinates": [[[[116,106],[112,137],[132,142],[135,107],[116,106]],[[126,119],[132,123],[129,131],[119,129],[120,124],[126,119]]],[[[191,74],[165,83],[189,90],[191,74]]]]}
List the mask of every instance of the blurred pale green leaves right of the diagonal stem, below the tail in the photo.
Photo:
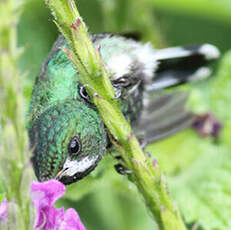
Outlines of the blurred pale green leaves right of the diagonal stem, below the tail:
{"type": "Polygon", "coordinates": [[[223,122],[219,140],[199,138],[188,130],[149,147],[170,175],[170,192],[187,223],[198,221],[205,229],[231,227],[230,73],[231,52],[206,82],[206,90],[193,86],[191,94],[194,110],[203,106],[223,122]]]}

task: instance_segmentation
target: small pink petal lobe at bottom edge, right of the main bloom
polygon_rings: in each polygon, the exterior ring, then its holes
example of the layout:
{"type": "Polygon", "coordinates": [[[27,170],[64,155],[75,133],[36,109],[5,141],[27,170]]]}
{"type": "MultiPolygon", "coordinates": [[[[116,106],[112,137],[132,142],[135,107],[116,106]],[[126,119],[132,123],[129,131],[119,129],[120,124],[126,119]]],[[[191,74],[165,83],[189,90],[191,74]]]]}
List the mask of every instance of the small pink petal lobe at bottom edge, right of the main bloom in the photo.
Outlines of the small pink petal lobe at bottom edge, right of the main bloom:
{"type": "Polygon", "coordinates": [[[64,213],[64,220],[60,226],[60,230],[85,230],[75,209],[69,208],[64,213]]]}

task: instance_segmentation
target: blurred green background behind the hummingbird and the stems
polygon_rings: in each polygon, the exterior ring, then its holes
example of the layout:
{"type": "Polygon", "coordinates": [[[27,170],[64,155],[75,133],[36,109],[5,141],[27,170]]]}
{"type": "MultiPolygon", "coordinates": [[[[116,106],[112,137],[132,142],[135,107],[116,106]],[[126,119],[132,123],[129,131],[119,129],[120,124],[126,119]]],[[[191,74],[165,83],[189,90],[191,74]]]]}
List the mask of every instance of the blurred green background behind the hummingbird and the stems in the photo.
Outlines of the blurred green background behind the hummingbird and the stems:
{"type": "MultiPolygon", "coordinates": [[[[231,47],[230,0],[79,0],[77,6],[91,33],[139,32],[156,47],[211,43],[222,54],[231,47]]],[[[29,101],[58,34],[43,1],[27,1],[18,32],[29,101]]],[[[198,221],[203,229],[231,229],[230,63],[226,54],[216,77],[187,87],[194,110],[213,111],[223,121],[220,140],[202,140],[187,130],[148,147],[168,175],[169,191],[189,226],[198,221]]],[[[114,163],[106,156],[93,175],[68,187],[58,205],[74,206],[88,230],[155,229],[136,188],[115,172],[114,163]]]]}

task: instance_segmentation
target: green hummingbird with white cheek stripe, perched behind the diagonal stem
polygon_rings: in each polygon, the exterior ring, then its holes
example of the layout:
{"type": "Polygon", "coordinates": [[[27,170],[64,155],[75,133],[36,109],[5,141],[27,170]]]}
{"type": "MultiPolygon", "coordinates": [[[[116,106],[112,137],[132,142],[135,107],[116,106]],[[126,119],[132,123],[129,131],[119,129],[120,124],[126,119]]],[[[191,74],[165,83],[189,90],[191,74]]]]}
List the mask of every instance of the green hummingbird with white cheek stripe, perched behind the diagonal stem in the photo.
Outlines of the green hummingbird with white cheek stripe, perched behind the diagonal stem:
{"type": "MultiPolygon", "coordinates": [[[[90,35],[135,134],[154,142],[190,127],[195,114],[185,108],[188,94],[165,90],[211,75],[219,57],[211,44],[155,49],[118,34],[90,35]]],[[[37,76],[29,107],[32,164],[39,181],[64,184],[88,175],[111,148],[107,128],[59,35],[37,76]]],[[[113,122],[113,121],[112,121],[113,122]]]]}

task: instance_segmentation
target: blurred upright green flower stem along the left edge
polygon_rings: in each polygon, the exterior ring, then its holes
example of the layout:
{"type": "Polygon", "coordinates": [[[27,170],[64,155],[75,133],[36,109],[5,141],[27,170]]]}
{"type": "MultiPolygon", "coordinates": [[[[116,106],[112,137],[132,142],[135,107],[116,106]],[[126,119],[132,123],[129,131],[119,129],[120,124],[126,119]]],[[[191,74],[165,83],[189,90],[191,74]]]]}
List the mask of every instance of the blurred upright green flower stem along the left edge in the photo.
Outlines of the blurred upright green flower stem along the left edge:
{"type": "Polygon", "coordinates": [[[22,7],[23,1],[0,1],[0,203],[8,200],[7,229],[31,229],[33,220],[28,197],[33,169],[21,85],[25,75],[16,66],[23,51],[17,42],[22,7]]]}

